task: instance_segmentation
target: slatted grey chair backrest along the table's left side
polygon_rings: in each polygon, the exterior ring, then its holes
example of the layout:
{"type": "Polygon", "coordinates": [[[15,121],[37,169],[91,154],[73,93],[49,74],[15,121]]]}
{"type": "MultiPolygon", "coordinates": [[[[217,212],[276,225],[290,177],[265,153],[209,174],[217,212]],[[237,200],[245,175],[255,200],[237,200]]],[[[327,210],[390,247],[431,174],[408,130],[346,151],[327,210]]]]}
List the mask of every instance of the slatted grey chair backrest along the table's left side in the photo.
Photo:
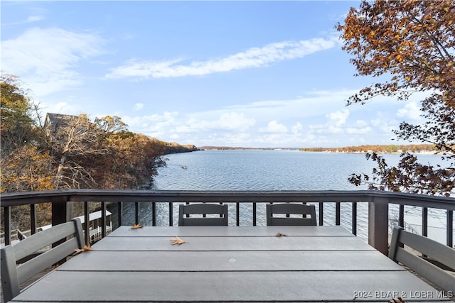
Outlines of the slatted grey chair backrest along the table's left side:
{"type": "Polygon", "coordinates": [[[1,285],[4,301],[8,302],[19,294],[21,291],[19,285],[22,282],[68,257],[76,248],[82,248],[83,239],[80,219],[73,219],[35,233],[14,246],[1,248],[1,285]],[[45,250],[45,253],[38,253],[39,250],[69,236],[73,238],[45,250]]]}

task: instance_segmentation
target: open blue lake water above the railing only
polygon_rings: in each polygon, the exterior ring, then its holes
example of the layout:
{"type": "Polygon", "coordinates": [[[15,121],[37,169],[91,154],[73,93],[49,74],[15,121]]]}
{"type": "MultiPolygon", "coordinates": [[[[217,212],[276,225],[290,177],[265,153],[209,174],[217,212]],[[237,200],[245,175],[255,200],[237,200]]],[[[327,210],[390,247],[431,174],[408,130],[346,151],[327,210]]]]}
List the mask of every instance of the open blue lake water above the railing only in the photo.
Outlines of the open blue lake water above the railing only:
{"type": "Polygon", "coordinates": [[[361,154],[296,150],[202,150],[166,158],[167,167],[155,178],[158,189],[359,189],[349,184],[350,172],[373,167],[361,154]]]}

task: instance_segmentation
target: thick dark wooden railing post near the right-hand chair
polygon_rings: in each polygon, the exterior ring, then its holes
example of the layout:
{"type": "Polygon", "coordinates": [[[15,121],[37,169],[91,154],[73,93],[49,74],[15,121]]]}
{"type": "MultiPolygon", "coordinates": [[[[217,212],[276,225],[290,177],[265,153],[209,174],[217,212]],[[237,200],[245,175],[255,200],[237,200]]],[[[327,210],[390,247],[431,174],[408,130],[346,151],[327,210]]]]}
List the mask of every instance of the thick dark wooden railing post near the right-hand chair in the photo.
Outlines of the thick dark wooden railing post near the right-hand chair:
{"type": "Polygon", "coordinates": [[[388,199],[374,197],[368,203],[368,244],[388,255],[389,204],[388,199]]]}

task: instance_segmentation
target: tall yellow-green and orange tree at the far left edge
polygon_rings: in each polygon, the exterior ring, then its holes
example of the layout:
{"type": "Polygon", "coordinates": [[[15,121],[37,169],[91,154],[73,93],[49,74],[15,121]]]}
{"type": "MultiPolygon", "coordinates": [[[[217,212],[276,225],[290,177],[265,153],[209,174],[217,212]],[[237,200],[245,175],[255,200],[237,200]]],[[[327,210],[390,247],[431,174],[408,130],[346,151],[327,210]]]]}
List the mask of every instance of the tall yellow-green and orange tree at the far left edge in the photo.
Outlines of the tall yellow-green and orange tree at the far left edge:
{"type": "Polygon", "coordinates": [[[46,169],[50,157],[41,149],[33,104],[21,80],[1,73],[1,192],[52,189],[46,169]]]}

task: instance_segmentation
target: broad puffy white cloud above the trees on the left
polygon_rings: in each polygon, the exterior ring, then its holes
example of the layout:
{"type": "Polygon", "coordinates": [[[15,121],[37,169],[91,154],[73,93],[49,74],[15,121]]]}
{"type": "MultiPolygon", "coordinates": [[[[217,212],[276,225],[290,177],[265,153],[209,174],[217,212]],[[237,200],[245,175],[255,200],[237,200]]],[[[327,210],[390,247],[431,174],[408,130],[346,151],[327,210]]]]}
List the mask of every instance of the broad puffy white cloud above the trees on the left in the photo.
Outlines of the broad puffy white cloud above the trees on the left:
{"type": "Polygon", "coordinates": [[[30,28],[1,43],[2,69],[20,75],[37,96],[82,83],[80,62],[102,53],[102,39],[94,33],[61,28],[30,28]]]}

